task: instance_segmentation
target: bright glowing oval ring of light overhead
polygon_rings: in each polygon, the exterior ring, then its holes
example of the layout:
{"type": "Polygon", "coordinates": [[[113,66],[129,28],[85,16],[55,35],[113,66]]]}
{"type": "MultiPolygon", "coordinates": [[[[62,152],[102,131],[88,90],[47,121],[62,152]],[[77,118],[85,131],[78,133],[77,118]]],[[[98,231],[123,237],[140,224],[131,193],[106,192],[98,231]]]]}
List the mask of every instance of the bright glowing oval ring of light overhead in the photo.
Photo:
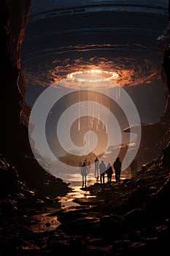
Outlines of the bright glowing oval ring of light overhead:
{"type": "Polygon", "coordinates": [[[85,71],[72,72],[71,74],[67,75],[67,78],[78,82],[100,83],[116,79],[118,76],[119,75],[116,72],[107,72],[100,69],[90,69],[85,71]]]}

